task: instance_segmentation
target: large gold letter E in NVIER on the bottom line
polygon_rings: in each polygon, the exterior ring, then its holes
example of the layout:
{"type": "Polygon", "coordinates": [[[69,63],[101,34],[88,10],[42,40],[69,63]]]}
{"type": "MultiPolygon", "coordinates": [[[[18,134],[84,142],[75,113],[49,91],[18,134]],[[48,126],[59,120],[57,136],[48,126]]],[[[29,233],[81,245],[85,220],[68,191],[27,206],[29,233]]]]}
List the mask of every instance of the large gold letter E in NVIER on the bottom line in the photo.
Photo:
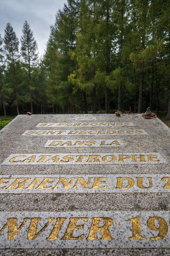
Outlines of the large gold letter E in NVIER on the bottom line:
{"type": "Polygon", "coordinates": [[[74,230],[81,229],[83,230],[84,224],[77,225],[77,221],[88,221],[88,218],[70,218],[70,221],[68,223],[67,230],[65,231],[64,236],[62,237],[62,240],[82,240],[84,238],[84,234],[80,236],[73,236],[74,230]]]}

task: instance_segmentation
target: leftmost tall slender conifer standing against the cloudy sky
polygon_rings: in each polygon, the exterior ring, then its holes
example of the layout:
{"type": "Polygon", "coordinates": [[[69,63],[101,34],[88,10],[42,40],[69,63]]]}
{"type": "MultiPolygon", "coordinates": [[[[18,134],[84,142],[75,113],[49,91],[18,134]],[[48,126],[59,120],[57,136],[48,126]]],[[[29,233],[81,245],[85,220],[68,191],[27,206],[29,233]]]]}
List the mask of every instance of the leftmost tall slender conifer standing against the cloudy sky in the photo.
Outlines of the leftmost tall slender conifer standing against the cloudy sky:
{"type": "Polygon", "coordinates": [[[17,114],[19,115],[19,88],[16,77],[16,62],[19,60],[19,40],[10,23],[7,23],[4,35],[4,49],[6,60],[11,67],[11,82],[14,90],[15,105],[17,106],[17,114]]]}

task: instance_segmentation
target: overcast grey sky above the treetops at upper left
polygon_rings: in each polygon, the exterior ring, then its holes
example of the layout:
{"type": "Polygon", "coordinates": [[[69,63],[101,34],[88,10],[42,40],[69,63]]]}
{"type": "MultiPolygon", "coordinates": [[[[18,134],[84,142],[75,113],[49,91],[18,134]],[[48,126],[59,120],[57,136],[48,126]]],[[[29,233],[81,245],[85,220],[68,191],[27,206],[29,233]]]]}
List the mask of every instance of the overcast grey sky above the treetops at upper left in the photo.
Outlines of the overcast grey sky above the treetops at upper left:
{"type": "Polygon", "coordinates": [[[55,14],[62,9],[66,0],[0,0],[0,34],[4,35],[6,23],[11,23],[17,37],[22,35],[25,20],[31,26],[40,55],[44,53],[50,26],[55,14]]]}

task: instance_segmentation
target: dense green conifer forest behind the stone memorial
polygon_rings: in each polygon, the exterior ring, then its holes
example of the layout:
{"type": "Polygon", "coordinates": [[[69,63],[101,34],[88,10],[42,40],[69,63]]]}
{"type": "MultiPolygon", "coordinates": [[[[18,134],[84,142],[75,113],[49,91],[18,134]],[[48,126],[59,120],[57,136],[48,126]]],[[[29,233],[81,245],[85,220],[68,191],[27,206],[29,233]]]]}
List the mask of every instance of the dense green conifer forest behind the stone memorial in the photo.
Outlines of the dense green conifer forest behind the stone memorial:
{"type": "Polygon", "coordinates": [[[27,21],[0,35],[0,115],[142,113],[170,119],[170,1],[68,0],[45,54],[27,21]],[[168,110],[169,106],[169,110],[168,110]]]}

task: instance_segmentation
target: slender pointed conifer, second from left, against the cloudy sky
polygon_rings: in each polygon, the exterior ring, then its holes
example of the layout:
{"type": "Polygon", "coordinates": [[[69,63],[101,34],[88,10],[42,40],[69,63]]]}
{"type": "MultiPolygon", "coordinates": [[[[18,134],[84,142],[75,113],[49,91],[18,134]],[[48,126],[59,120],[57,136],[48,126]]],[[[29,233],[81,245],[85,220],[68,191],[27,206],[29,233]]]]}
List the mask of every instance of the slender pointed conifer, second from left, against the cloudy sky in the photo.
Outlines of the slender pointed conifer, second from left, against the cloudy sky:
{"type": "Polygon", "coordinates": [[[32,72],[33,68],[38,64],[38,47],[37,42],[34,39],[33,32],[31,31],[27,21],[25,21],[23,25],[23,36],[21,37],[21,55],[23,57],[23,63],[28,70],[31,113],[33,113],[33,103],[35,103],[34,91],[36,88],[34,86],[34,81],[32,80],[32,72]]]}

